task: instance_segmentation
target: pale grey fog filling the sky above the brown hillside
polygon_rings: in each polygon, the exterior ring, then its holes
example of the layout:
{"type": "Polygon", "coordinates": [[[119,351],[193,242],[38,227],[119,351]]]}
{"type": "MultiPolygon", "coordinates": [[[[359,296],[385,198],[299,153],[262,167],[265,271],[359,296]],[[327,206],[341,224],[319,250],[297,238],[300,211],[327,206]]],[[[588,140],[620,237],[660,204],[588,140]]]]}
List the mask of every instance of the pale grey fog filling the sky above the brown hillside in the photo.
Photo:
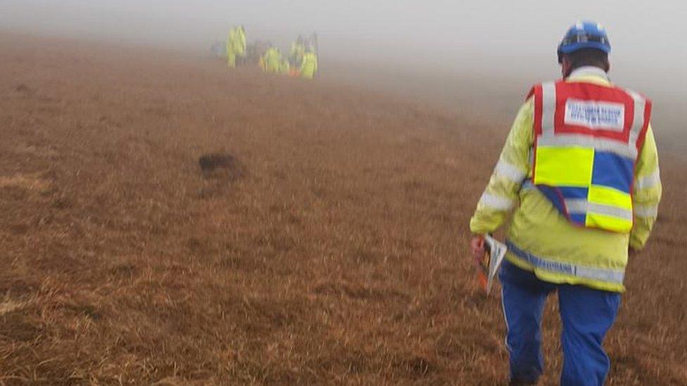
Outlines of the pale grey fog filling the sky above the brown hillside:
{"type": "Polygon", "coordinates": [[[610,34],[612,78],[655,96],[674,122],[687,98],[685,18],[684,0],[0,0],[0,31],[198,53],[237,24],[248,41],[283,49],[317,32],[323,74],[338,65],[380,77],[512,79],[519,93],[557,77],[562,34],[577,20],[594,20],[610,34]]]}

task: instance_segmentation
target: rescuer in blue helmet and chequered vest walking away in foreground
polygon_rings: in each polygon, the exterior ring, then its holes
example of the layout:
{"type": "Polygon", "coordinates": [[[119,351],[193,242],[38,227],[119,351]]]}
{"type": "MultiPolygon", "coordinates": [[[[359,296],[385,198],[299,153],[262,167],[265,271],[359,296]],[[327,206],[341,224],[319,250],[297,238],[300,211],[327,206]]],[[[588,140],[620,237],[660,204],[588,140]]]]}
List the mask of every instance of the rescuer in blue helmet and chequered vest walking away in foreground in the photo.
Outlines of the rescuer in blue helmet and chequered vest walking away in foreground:
{"type": "Polygon", "coordinates": [[[508,212],[501,266],[511,385],[543,371],[541,316],[558,291],[561,385],[603,385],[602,344],[623,292],[629,248],[641,250],[661,198],[651,101],[610,83],[605,30],[573,25],[558,46],[563,79],[538,84],[520,108],[470,221],[475,256],[508,212]]]}

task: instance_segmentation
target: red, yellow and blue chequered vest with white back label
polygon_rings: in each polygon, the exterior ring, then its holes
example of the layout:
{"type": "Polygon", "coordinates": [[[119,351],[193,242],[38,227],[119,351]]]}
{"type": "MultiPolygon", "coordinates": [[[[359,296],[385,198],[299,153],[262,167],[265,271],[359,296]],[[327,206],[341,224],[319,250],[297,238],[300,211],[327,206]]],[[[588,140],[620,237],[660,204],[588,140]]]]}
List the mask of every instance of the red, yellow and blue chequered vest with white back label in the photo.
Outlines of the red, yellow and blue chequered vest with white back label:
{"type": "Polygon", "coordinates": [[[629,233],[631,188],[651,101],[588,82],[534,86],[532,183],[573,224],[629,233]]]}

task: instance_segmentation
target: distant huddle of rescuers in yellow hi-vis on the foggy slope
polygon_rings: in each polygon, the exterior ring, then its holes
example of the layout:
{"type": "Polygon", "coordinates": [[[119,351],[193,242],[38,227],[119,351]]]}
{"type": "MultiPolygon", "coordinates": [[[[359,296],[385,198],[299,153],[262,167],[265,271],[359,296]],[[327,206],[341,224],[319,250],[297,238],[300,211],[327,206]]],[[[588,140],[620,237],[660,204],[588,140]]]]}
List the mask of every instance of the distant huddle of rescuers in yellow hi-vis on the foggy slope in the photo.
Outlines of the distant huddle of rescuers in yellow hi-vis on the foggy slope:
{"type": "MultiPolygon", "coordinates": [[[[227,37],[227,63],[229,68],[243,63],[248,56],[256,56],[257,63],[265,72],[274,72],[291,77],[313,79],[317,74],[317,35],[305,39],[299,36],[291,44],[289,55],[285,56],[277,46],[267,43],[264,49],[246,46],[246,30],[244,27],[233,27],[227,37]],[[251,51],[251,52],[249,52],[251,51]]],[[[250,61],[250,60],[248,60],[250,61]]],[[[253,62],[255,63],[255,62],[253,62]]]]}

